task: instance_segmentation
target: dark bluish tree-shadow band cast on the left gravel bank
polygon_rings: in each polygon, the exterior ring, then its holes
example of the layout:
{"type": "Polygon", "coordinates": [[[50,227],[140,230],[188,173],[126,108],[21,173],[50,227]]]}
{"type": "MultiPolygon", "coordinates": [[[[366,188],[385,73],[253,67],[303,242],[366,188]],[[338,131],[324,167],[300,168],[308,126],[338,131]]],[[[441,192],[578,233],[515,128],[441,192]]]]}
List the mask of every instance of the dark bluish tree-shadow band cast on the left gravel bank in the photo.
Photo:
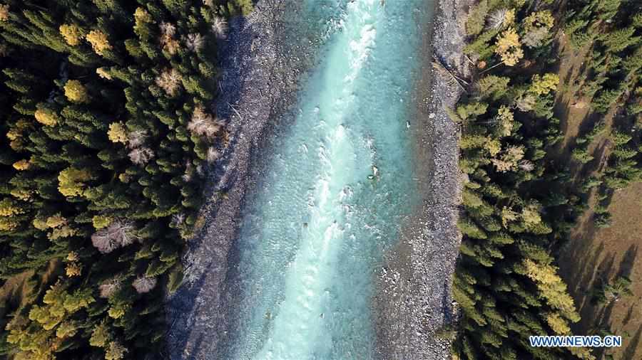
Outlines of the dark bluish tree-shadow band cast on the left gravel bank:
{"type": "MultiPolygon", "coordinates": [[[[240,56],[239,47],[241,44],[248,43],[248,37],[253,36],[245,31],[246,19],[243,16],[236,16],[230,21],[229,41],[220,44],[218,58],[222,66],[221,73],[223,79],[219,84],[220,93],[215,104],[211,105],[215,109],[218,117],[231,119],[235,113],[233,104],[238,101],[243,90],[243,72],[244,64],[238,61],[240,56]]],[[[246,52],[249,51],[246,50],[246,52]]],[[[230,128],[230,143],[226,154],[237,148],[238,139],[240,139],[240,128],[230,128]]],[[[184,280],[178,290],[166,299],[166,322],[167,333],[165,353],[168,359],[203,359],[203,350],[211,348],[211,343],[215,339],[220,339],[223,334],[215,331],[217,329],[220,314],[215,310],[219,304],[218,294],[208,291],[211,287],[210,272],[218,272],[219,263],[213,260],[214,247],[220,246],[218,243],[210,243],[210,229],[217,228],[215,223],[220,221],[220,201],[213,200],[216,191],[223,193],[229,191],[237,183],[240,176],[238,169],[230,167],[230,157],[225,156],[217,162],[217,166],[208,169],[208,185],[204,189],[203,213],[205,213],[205,223],[198,233],[188,242],[186,253],[195,254],[195,260],[187,261],[183,258],[183,264],[186,266],[185,275],[190,275],[190,266],[193,262],[198,263],[197,271],[193,278],[184,280]],[[224,184],[221,179],[225,176],[224,184]],[[201,249],[199,251],[199,249],[201,249]],[[203,254],[200,254],[203,253],[203,254]],[[209,343],[209,344],[208,344],[209,343]]],[[[225,224],[227,226],[228,224],[225,224]]],[[[223,226],[223,225],[221,225],[223,226]]],[[[215,230],[213,230],[215,231],[215,230]]],[[[223,285],[224,286],[224,285],[223,285]]],[[[215,354],[211,354],[213,358],[215,354]]]]}

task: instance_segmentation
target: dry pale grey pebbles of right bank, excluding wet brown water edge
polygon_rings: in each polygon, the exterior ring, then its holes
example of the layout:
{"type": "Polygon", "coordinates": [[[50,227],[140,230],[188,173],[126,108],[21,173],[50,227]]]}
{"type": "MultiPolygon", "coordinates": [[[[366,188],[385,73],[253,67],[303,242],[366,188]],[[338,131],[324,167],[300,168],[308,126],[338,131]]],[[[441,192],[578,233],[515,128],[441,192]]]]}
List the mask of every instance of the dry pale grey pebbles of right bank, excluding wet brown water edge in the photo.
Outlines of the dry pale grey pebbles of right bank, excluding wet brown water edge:
{"type": "MultiPolygon", "coordinates": [[[[438,0],[439,11],[434,19],[434,53],[439,58],[462,59],[463,33],[457,28],[457,14],[465,14],[472,0],[438,0]]],[[[465,73],[462,71],[462,73],[465,73]]],[[[410,264],[388,268],[382,274],[387,293],[397,292],[399,297],[387,297],[381,306],[385,311],[379,319],[380,351],[385,359],[446,360],[451,359],[450,340],[435,339],[430,334],[440,329],[444,322],[457,319],[449,294],[452,272],[458,256],[461,238],[457,231],[457,198],[459,193],[457,167],[458,130],[449,121],[444,107],[452,107],[459,97],[459,89],[450,88],[443,80],[432,84],[432,103],[427,132],[432,143],[433,183],[429,186],[431,197],[424,202],[422,216],[413,220],[416,227],[408,235],[410,264]],[[448,134],[447,136],[444,134],[448,134]],[[392,274],[404,272],[403,282],[392,282],[392,274]],[[388,334],[387,329],[394,328],[388,334]]],[[[393,260],[397,261],[397,260],[393,260]]],[[[399,279],[399,278],[397,278],[399,279]]],[[[400,280],[400,279],[399,279],[400,280]]]]}

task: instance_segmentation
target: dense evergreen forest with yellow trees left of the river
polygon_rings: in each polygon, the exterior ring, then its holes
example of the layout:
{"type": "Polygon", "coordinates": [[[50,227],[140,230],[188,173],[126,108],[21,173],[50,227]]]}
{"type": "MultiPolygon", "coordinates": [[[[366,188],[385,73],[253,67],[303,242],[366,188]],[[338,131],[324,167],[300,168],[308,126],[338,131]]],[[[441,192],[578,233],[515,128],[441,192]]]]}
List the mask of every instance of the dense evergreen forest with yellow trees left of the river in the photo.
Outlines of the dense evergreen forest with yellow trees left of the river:
{"type": "Polygon", "coordinates": [[[229,141],[217,43],[251,9],[1,1],[0,356],[162,356],[204,168],[229,141]]]}

